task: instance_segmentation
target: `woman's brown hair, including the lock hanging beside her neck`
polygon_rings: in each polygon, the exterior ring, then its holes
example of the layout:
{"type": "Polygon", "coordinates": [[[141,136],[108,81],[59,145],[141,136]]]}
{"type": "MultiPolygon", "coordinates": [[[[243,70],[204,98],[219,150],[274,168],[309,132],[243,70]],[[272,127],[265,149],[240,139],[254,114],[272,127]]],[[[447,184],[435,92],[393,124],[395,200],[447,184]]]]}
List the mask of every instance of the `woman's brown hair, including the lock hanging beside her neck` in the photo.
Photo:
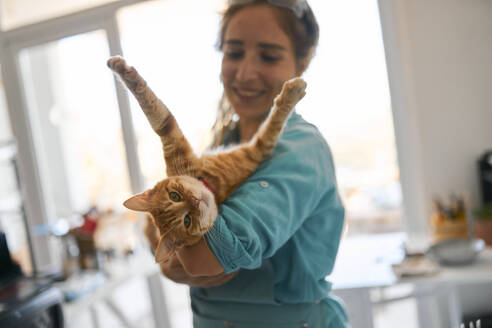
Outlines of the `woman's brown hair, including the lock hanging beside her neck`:
{"type": "MultiPolygon", "coordinates": [[[[280,27],[292,41],[297,69],[302,73],[311,61],[319,39],[318,22],[307,3],[301,18],[298,18],[292,10],[272,5],[267,0],[252,0],[245,4],[231,5],[222,14],[217,48],[222,50],[225,33],[232,17],[242,9],[256,5],[268,5],[275,10],[280,27]]],[[[224,134],[232,130],[234,126],[234,110],[225,94],[223,94],[219,101],[217,117],[212,127],[214,133],[212,146],[219,146],[222,143],[224,134]]]]}

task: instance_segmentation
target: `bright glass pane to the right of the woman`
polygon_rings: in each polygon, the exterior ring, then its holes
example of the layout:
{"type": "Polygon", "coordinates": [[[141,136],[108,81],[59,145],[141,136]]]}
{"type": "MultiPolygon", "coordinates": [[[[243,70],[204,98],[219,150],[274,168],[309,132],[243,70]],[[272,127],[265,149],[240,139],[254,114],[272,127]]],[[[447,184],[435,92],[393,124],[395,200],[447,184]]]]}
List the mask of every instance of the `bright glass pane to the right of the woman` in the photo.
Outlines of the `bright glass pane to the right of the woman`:
{"type": "Polygon", "coordinates": [[[401,231],[401,188],[377,1],[311,0],[320,25],[299,113],[335,159],[348,232],[401,231]]]}

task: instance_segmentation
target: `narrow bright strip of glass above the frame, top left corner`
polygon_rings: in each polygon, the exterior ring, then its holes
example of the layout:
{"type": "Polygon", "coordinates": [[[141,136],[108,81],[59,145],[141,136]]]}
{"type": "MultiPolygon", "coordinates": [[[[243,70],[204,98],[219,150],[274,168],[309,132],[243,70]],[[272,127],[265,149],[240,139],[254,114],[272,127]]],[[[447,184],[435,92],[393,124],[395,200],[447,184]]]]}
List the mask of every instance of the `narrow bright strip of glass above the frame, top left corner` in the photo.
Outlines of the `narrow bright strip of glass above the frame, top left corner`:
{"type": "Polygon", "coordinates": [[[0,21],[5,31],[114,1],[117,0],[3,0],[0,21]]]}

